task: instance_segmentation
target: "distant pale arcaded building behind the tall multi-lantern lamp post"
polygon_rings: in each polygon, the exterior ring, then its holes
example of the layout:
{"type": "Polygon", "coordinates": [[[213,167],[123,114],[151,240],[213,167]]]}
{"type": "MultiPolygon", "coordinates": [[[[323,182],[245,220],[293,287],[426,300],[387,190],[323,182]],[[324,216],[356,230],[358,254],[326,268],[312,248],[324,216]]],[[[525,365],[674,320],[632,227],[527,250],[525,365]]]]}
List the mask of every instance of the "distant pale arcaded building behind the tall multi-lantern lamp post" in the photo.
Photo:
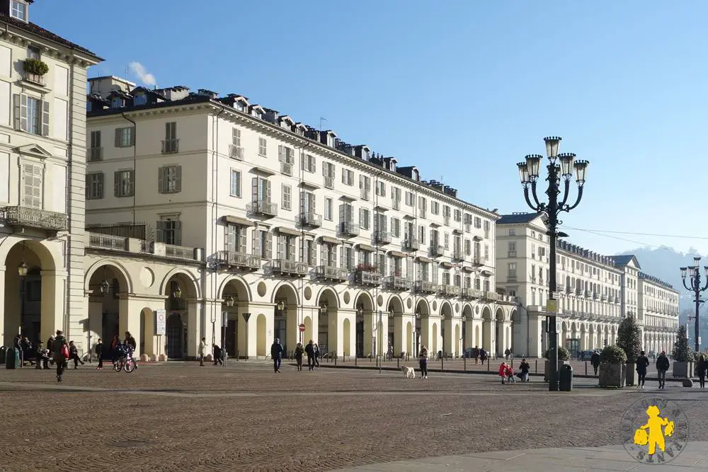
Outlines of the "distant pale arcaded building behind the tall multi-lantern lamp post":
{"type": "MultiPolygon", "coordinates": [[[[498,219],[498,292],[515,297],[513,345],[516,355],[540,357],[547,350],[549,238],[543,214],[518,213],[498,219]]],[[[556,244],[559,343],[571,352],[615,344],[624,316],[639,313],[639,263],[632,255],[603,256],[566,241],[556,244]]],[[[678,297],[675,298],[678,323],[678,297]]],[[[649,338],[644,338],[649,346],[649,338]]],[[[649,347],[646,347],[649,350],[649,347]]]]}

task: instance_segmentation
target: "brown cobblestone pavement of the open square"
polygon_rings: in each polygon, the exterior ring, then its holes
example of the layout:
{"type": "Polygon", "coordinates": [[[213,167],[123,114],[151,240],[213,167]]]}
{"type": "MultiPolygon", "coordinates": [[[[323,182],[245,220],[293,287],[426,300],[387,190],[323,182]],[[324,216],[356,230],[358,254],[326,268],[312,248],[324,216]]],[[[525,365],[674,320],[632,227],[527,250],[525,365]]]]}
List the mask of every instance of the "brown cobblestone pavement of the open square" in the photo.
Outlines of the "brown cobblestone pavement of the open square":
{"type": "MultiPolygon", "coordinates": [[[[541,381],[501,386],[489,375],[320,369],[273,374],[263,362],[227,368],[143,365],[132,374],[88,365],[64,375],[0,369],[3,471],[328,471],[481,451],[617,444],[639,395],[541,381]]],[[[704,394],[682,400],[691,439],[708,438],[704,394]]]]}

